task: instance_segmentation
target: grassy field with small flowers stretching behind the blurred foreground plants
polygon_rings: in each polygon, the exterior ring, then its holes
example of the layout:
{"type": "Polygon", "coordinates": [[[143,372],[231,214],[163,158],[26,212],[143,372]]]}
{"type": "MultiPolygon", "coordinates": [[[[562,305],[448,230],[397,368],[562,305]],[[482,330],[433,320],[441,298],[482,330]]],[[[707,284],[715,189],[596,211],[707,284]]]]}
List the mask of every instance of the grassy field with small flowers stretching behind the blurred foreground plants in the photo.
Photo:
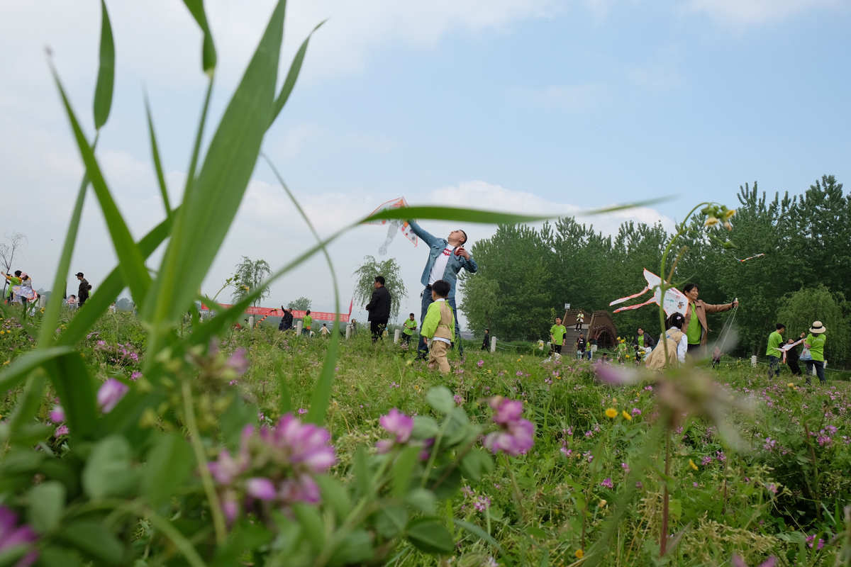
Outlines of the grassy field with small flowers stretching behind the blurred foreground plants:
{"type": "MultiPolygon", "coordinates": [[[[106,315],[80,349],[101,380],[119,376],[139,387],[145,382],[138,373],[143,337],[131,315],[106,315]]],[[[232,332],[220,348],[246,349],[248,370],[227,387],[261,423],[288,411],[304,414],[327,344],[272,329],[232,332]]],[[[11,360],[30,341],[14,321],[4,320],[0,348],[11,360]]],[[[805,387],[788,372],[768,382],[762,368],[738,360],[716,371],[691,371],[728,387],[736,407],[716,408],[714,418],[722,421],[712,422],[692,417],[711,417],[715,410],[699,407],[710,403],[707,396],[683,390],[675,402],[685,416],[674,415],[668,429],[672,537],[660,558],[660,403],[670,406],[670,388],[610,386],[588,363],[568,357],[545,362],[532,349],[491,354],[471,345],[465,354],[463,361],[450,359],[453,372],[444,377],[390,341],[371,344],[365,332],[342,344],[326,426],[338,457],[332,472],[344,483],[352,481],[357,448],[386,437],[380,416],[391,408],[428,415],[426,392],[435,386],[451,390],[454,403],[480,422],[488,421],[492,396],[523,400],[523,417],[535,426],[527,454],[500,453],[493,472],[477,482],[461,479],[460,493],[437,510],[454,536],[454,554],[426,555],[403,542],[386,564],[584,564],[592,549],[594,564],[606,565],[723,565],[735,554],[748,565],[771,556],[784,565],[846,560],[848,383],[805,387]],[[738,446],[727,430],[737,432],[738,446]],[[456,520],[475,524],[486,536],[460,530],[456,520]]],[[[3,399],[3,416],[14,394],[3,399]]],[[[44,422],[53,403],[52,394],[43,400],[44,422]]],[[[226,418],[214,405],[207,409],[202,421],[226,418]]],[[[66,443],[60,435],[50,446],[61,454],[66,443]]]]}

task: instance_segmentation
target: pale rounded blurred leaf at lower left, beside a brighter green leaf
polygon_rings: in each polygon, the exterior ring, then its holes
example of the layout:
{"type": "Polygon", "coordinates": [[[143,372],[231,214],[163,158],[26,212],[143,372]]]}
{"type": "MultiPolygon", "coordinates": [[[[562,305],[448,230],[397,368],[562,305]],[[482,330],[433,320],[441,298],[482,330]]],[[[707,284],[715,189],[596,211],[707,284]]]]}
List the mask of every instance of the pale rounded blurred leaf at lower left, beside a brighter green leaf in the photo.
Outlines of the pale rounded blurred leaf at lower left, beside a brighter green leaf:
{"type": "Polygon", "coordinates": [[[136,480],[130,463],[130,445],[121,435],[110,435],[94,445],[83,468],[83,490],[93,500],[120,496],[136,480]]]}

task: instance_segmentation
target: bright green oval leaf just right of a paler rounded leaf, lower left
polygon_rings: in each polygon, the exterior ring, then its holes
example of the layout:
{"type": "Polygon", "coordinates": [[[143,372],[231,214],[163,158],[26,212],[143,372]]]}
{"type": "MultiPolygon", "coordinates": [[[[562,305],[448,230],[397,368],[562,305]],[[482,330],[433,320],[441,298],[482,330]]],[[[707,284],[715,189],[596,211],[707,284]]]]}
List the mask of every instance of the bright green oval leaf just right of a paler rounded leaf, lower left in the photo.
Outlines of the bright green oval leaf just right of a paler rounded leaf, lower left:
{"type": "Polygon", "coordinates": [[[142,493],[153,504],[165,502],[192,471],[192,448],[179,434],[164,434],[148,453],[142,493]]]}

